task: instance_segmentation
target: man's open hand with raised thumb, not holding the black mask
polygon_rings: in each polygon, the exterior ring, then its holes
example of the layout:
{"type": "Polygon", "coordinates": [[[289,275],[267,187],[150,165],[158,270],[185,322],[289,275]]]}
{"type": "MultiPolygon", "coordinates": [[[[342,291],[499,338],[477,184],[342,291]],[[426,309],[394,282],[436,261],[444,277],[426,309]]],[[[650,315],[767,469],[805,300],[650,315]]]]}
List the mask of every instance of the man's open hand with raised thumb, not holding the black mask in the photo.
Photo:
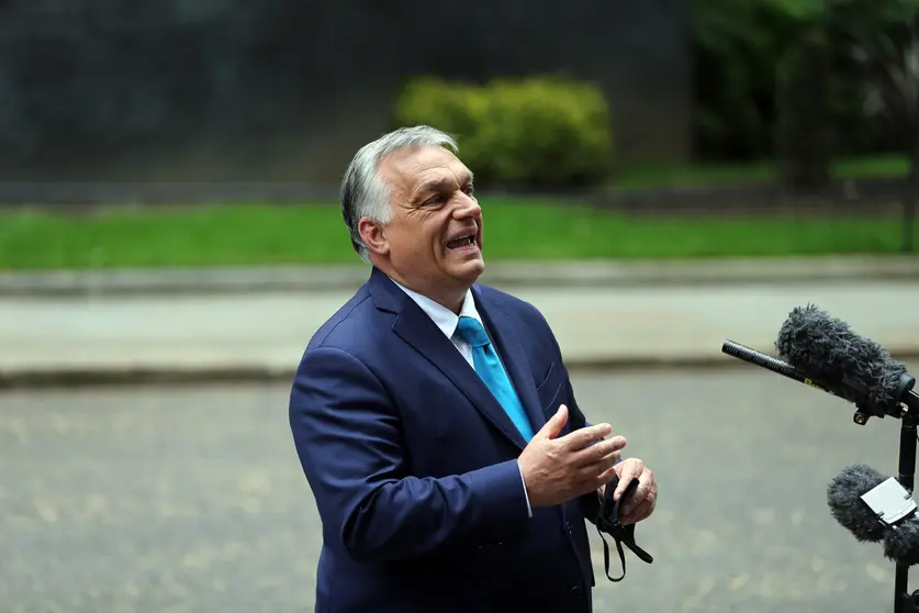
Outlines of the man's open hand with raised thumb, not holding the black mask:
{"type": "Polygon", "coordinates": [[[534,506],[551,506],[596,491],[613,478],[626,446],[621,436],[603,439],[613,432],[609,424],[583,427],[558,438],[567,421],[568,406],[562,404],[518,458],[534,506]]]}

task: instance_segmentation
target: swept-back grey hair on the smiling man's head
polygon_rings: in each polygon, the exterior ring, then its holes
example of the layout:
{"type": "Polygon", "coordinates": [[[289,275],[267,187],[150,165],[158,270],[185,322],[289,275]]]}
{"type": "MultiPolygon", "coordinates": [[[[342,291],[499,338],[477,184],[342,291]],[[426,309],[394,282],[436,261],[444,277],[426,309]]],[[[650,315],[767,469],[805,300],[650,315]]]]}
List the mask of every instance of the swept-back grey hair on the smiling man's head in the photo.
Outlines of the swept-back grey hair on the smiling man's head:
{"type": "Polygon", "coordinates": [[[429,125],[400,127],[366,144],[355,154],[341,179],[339,200],[341,216],[351,236],[351,246],[360,258],[370,264],[369,252],[358,232],[361,218],[389,223],[390,185],[380,176],[380,163],[388,155],[406,147],[447,147],[457,153],[456,140],[429,125]]]}

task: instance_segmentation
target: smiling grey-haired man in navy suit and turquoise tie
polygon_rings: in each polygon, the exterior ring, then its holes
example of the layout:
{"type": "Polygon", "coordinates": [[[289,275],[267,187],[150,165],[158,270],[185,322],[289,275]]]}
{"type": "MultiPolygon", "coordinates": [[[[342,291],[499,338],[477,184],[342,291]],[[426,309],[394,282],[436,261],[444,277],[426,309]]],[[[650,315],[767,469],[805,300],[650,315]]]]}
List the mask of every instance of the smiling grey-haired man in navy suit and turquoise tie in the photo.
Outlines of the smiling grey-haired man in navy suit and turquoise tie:
{"type": "Polygon", "coordinates": [[[316,613],[589,612],[604,486],[653,473],[590,425],[540,312],[478,283],[482,209],[453,140],[396,130],[341,185],[369,280],[316,332],[290,424],[323,524],[316,613]]]}

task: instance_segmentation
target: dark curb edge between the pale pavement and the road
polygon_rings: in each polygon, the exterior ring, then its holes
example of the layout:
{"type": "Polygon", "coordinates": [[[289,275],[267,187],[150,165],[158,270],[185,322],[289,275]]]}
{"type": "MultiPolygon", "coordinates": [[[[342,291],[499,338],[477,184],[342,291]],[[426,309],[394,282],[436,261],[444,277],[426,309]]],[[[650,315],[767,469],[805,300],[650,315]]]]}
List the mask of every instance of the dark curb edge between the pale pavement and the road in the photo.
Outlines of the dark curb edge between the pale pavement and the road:
{"type": "MultiPolygon", "coordinates": [[[[919,359],[919,347],[898,350],[898,360],[919,359]]],[[[612,374],[630,370],[749,370],[769,372],[720,352],[687,355],[594,356],[565,359],[572,375],[612,374]]],[[[0,392],[77,388],[114,388],[131,386],[204,386],[290,383],[296,371],[291,368],[259,366],[202,366],[199,368],[127,368],[127,369],[61,369],[0,371],[0,392]]],[[[783,379],[781,375],[775,375],[783,379]]]]}

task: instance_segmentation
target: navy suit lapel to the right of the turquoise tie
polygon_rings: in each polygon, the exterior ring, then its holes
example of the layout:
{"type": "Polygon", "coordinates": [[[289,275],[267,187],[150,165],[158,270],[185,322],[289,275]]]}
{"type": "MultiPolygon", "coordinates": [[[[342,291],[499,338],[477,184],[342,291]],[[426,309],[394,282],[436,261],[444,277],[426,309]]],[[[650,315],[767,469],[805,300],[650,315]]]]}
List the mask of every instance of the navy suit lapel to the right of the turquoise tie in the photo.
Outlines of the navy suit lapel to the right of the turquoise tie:
{"type": "Polygon", "coordinates": [[[542,414],[542,406],[536,393],[536,383],[533,380],[529,360],[527,360],[524,345],[514,327],[514,320],[504,309],[502,302],[496,300],[485,301],[475,287],[472,291],[475,296],[475,306],[479,314],[482,315],[485,327],[489,330],[489,336],[496,346],[497,354],[504,363],[504,368],[507,369],[507,375],[511,377],[520,403],[527,412],[533,431],[538,432],[546,424],[546,416],[542,414]]]}

